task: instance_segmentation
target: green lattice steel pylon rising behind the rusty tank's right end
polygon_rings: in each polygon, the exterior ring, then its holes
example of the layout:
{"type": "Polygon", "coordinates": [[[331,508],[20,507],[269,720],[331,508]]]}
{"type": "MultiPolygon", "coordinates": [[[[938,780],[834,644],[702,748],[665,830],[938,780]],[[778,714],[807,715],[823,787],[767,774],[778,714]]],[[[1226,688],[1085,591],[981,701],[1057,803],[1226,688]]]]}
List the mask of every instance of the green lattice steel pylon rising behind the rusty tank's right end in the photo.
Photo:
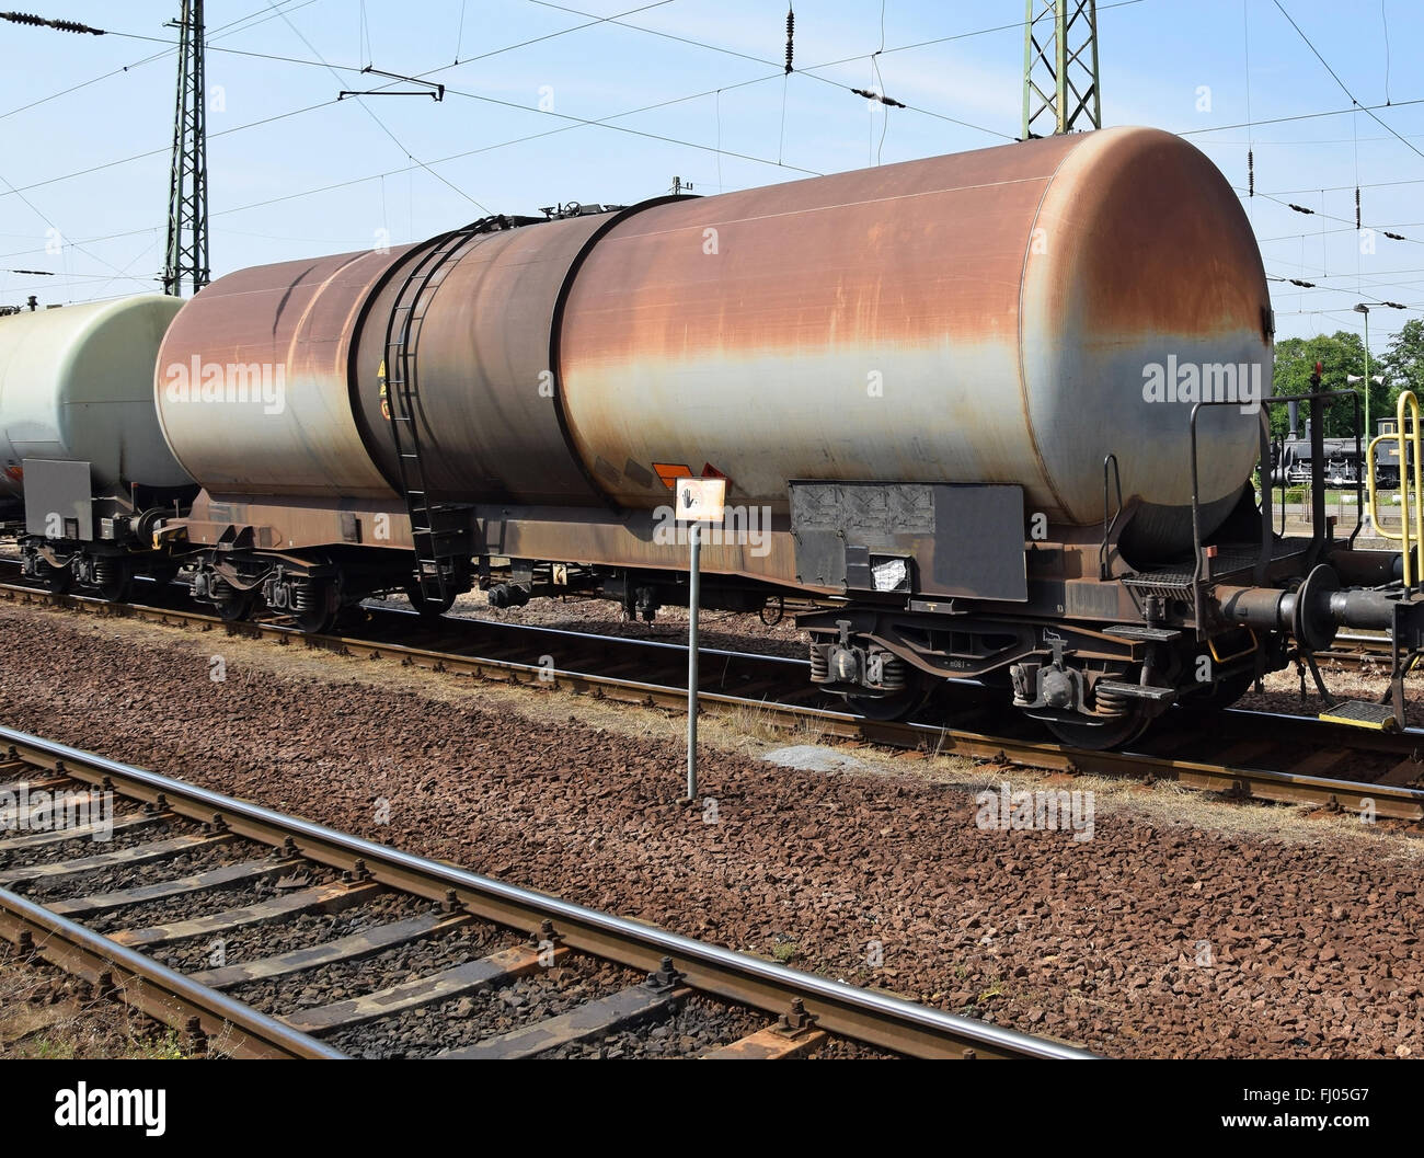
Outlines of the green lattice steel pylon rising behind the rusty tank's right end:
{"type": "Polygon", "coordinates": [[[1024,137],[1102,128],[1096,0],[1025,0],[1024,137]]]}

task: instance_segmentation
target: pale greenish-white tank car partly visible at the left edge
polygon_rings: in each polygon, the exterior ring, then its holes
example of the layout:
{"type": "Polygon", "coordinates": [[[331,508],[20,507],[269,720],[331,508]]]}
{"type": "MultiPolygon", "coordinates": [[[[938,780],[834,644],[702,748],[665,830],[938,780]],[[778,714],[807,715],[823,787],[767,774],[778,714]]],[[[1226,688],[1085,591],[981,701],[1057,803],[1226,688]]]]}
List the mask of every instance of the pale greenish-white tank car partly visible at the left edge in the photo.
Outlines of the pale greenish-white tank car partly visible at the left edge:
{"type": "MultiPolygon", "coordinates": [[[[181,302],[157,293],[0,318],[0,493],[24,574],[122,598],[159,517],[197,486],[158,429],[152,366],[181,302]]],[[[175,570],[175,568],[172,568],[175,570]]]]}

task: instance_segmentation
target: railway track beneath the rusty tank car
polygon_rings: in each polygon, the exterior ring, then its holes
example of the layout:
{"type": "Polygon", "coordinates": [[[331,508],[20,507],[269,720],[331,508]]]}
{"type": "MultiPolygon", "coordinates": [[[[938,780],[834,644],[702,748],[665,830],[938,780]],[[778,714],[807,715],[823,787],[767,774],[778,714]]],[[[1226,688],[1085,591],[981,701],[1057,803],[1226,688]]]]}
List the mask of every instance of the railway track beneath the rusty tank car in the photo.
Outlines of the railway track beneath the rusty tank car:
{"type": "MultiPolygon", "coordinates": [[[[580,631],[369,608],[342,635],[310,637],[278,621],[226,624],[165,593],[162,605],[115,607],[0,584],[0,600],[124,615],[188,631],[228,631],[282,645],[417,665],[456,677],[567,691],[601,699],[686,706],[686,648],[580,631]],[[402,642],[397,642],[402,641],[402,642]],[[420,645],[420,642],[429,645],[420,645]]],[[[1424,820],[1424,731],[1370,732],[1312,716],[1227,709],[1172,712],[1129,751],[1098,752],[1048,741],[1031,724],[997,712],[984,691],[956,687],[956,705],[934,722],[884,722],[827,706],[799,659],[702,651],[702,704],[750,711],[787,731],[813,731],[889,748],[1079,775],[1172,781],[1240,799],[1313,805],[1378,819],[1424,820]],[[1210,726],[1203,726],[1203,719],[1210,726]]]]}

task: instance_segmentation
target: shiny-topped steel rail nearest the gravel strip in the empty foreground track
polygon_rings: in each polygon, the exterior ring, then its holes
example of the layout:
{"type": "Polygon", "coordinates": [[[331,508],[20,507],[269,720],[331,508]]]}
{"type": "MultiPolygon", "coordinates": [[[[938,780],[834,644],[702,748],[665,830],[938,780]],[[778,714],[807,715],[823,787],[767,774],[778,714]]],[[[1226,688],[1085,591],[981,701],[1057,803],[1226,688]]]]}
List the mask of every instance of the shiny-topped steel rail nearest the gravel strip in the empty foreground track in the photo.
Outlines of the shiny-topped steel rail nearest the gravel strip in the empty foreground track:
{"type": "Polygon", "coordinates": [[[456,900],[484,920],[520,930],[537,930],[543,922],[551,920],[562,944],[631,969],[651,971],[661,966],[664,957],[671,957],[696,990],[772,1016],[785,1013],[793,998],[800,998],[807,1013],[817,1018],[819,1028],[893,1053],[927,1058],[1094,1057],[1074,1045],[943,1013],[890,993],[859,989],[705,944],[644,922],[600,913],[11,728],[0,726],[0,742],[13,745],[27,763],[91,783],[107,778],[124,796],[150,803],[162,796],[164,805],[178,815],[195,820],[221,816],[228,829],[239,836],[266,845],[290,839],[299,855],[332,867],[349,870],[362,862],[375,880],[416,896],[441,900],[453,892],[456,900]]]}

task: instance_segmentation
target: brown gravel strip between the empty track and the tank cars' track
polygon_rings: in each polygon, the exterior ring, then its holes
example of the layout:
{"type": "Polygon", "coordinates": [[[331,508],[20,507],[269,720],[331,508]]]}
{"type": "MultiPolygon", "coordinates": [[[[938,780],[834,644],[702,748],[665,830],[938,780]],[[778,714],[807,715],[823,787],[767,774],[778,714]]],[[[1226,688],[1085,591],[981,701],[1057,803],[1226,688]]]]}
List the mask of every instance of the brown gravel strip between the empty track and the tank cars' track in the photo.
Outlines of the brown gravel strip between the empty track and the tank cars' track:
{"type": "Polygon", "coordinates": [[[0,635],[11,726],[800,969],[1114,1055],[1424,1053],[1405,836],[1062,779],[1098,791],[1091,840],[981,830],[980,788],[1044,783],[711,741],[706,823],[675,719],[56,611],[0,607],[0,635]]]}

